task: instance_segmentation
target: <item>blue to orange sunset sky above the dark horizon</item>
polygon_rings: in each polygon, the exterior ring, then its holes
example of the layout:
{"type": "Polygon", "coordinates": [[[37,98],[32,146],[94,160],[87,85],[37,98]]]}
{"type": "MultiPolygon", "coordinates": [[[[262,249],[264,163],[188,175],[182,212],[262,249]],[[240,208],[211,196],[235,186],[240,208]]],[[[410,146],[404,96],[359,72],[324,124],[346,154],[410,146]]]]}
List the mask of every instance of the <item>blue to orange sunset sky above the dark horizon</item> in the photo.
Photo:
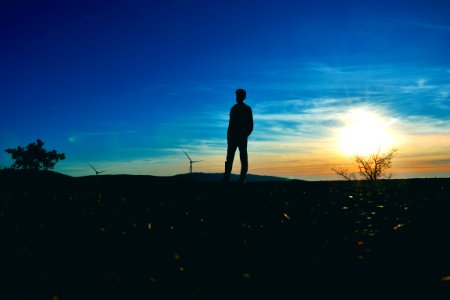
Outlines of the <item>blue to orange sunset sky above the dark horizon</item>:
{"type": "MultiPolygon", "coordinates": [[[[249,173],[450,176],[450,1],[2,1],[0,166],[40,138],[55,170],[223,172],[237,88],[249,173]],[[371,148],[367,148],[370,146],[371,148]]],[[[240,169],[236,155],[233,172],[240,169]]]]}

